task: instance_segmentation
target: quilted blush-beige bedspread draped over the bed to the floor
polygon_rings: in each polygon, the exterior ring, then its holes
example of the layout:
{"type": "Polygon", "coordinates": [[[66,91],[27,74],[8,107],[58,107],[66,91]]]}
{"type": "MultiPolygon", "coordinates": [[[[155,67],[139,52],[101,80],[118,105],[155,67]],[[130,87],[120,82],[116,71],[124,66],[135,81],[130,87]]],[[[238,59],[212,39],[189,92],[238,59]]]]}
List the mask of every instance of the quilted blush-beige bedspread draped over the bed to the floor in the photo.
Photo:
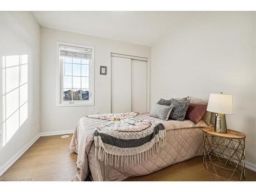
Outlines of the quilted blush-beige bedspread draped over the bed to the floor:
{"type": "Polygon", "coordinates": [[[208,126],[204,121],[198,124],[190,120],[163,121],[148,114],[138,114],[135,118],[163,123],[166,129],[166,145],[142,164],[131,167],[105,165],[95,160],[93,132],[96,126],[108,121],[83,117],[78,121],[70,143],[71,150],[78,154],[76,163],[78,172],[73,178],[74,181],[84,181],[89,174],[94,181],[122,181],[129,177],[147,175],[174,163],[202,155],[201,127],[208,126]]]}

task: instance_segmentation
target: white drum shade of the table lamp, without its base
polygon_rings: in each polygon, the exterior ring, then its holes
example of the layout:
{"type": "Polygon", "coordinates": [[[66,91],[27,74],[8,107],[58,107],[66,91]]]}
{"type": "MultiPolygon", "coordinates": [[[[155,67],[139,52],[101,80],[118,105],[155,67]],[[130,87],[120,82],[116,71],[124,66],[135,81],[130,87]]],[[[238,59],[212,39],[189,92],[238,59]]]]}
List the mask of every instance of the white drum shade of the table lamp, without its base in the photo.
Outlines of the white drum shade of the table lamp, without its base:
{"type": "Polygon", "coordinates": [[[234,114],[233,95],[210,94],[207,111],[223,114],[234,114]]]}

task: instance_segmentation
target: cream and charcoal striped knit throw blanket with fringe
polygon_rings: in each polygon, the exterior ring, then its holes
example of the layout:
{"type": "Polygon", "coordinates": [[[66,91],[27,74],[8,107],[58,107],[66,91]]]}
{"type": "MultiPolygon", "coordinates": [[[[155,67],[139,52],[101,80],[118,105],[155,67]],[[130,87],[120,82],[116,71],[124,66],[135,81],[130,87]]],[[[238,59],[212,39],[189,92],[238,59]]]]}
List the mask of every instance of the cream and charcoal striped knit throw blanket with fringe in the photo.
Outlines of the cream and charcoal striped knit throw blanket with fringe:
{"type": "Polygon", "coordinates": [[[95,159],[105,165],[132,166],[147,161],[165,144],[162,123],[137,120],[137,113],[88,116],[110,122],[94,131],[95,159]]]}

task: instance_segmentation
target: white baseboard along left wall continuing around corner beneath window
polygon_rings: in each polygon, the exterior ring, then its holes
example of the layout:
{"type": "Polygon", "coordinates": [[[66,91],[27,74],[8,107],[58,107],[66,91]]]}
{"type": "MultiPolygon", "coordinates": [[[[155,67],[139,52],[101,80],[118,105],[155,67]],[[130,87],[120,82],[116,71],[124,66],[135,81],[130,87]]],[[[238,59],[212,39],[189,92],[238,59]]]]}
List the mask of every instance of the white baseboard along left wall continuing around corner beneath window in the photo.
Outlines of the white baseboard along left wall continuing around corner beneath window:
{"type": "Polygon", "coordinates": [[[0,167],[0,176],[2,176],[8,168],[10,168],[13,163],[15,163],[20,156],[22,156],[34,142],[37,141],[40,137],[44,136],[52,136],[52,135],[63,135],[63,134],[72,134],[74,130],[66,130],[66,131],[56,131],[56,132],[41,132],[38,133],[30,142],[28,142],[21,150],[19,150],[9,161],[7,161],[2,167],[0,167]]]}

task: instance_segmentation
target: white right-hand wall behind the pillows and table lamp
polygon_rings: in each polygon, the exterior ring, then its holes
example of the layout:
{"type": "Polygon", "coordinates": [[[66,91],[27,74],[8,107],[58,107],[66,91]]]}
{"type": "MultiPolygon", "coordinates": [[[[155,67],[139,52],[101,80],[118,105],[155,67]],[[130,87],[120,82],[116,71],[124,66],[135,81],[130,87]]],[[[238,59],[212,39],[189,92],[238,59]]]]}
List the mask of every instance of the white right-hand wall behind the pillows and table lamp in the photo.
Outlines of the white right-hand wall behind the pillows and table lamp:
{"type": "Polygon", "coordinates": [[[246,134],[246,160],[256,164],[254,13],[198,13],[151,54],[151,103],[233,94],[235,114],[227,115],[227,125],[246,134]]]}

